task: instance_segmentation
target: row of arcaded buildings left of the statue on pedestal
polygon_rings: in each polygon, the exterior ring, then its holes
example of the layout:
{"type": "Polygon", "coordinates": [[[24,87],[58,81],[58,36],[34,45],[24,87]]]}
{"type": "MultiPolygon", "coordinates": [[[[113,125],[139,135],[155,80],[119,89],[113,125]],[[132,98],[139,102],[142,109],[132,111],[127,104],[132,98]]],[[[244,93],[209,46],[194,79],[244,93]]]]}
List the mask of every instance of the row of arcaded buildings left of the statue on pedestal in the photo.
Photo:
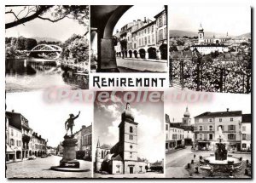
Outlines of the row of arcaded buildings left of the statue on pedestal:
{"type": "Polygon", "coordinates": [[[17,162],[46,153],[47,141],[33,132],[26,117],[15,111],[6,116],[6,162],[17,162]]]}

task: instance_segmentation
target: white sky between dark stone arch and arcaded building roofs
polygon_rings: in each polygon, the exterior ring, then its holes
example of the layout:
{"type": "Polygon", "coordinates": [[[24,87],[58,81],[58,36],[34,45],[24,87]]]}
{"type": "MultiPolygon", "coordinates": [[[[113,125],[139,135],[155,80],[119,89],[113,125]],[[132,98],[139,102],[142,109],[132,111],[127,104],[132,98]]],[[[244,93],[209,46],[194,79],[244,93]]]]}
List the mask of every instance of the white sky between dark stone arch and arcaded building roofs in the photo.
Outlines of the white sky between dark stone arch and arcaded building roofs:
{"type": "Polygon", "coordinates": [[[113,34],[116,33],[116,30],[120,31],[123,26],[132,22],[133,20],[144,20],[144,17],[149,20],[154,20],[154,15],[159,14],[162,10],[164,10],[164,5],[133,6],[131,9],[128,9],[119,19],[118,23],[113,28],[113,34]]]}

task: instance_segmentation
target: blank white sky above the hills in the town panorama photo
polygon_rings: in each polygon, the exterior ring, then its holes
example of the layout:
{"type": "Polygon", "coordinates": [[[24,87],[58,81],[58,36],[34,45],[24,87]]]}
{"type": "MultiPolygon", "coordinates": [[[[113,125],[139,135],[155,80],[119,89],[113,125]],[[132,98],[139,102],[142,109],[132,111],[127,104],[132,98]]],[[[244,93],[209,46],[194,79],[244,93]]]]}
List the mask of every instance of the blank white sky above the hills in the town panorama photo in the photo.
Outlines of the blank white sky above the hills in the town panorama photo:
{"type": "Polygon", "coordinates": [[[251,32],[250,7],[183,7],[168,6],[169,30],[229,32],[239,36],[251,32]]]}

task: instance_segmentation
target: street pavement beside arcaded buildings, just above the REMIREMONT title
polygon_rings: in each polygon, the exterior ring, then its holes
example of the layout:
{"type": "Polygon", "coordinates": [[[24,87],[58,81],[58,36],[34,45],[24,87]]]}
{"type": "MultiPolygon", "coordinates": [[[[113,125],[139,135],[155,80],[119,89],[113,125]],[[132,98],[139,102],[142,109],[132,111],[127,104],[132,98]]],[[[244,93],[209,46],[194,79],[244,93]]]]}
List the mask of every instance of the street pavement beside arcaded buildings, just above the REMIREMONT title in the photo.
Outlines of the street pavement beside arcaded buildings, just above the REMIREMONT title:
{"type": "Polygon", "coordinates": [[[120,72],[167,72],[167,60],[116,59],[120,72]]]}

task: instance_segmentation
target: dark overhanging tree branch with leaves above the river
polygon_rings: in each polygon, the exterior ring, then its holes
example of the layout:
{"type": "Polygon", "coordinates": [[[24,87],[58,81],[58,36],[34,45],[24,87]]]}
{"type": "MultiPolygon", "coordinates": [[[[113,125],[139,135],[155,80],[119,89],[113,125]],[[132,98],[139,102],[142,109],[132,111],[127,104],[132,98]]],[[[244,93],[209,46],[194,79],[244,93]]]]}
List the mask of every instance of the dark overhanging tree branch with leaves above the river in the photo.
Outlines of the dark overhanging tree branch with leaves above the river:
{"type": "Polygon", "coordinates": [[[5,14],[12,14],[13,20],[5,24],[5,29],[24,25],[26,22],[41,19],[57,22],[64,18],[78,20],[79,24],[87,26],[89,6],[6,6],[5,14]],[[50,12],[50,14],[49,14],[50,12]]]}

